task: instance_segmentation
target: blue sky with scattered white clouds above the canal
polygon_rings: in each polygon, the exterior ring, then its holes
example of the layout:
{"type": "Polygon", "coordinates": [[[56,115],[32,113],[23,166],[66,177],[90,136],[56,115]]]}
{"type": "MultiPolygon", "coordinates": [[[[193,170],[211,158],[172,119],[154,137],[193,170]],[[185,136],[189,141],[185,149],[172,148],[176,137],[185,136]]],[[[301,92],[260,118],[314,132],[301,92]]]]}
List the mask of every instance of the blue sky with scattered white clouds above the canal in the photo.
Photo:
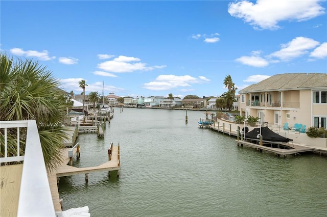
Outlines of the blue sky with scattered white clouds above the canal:
{"type": "Polygon", "coordinates": [[[274,74],[326,73],[326,1],[1,1],[1,50],[67,92],[220,96],[274,74]]]}

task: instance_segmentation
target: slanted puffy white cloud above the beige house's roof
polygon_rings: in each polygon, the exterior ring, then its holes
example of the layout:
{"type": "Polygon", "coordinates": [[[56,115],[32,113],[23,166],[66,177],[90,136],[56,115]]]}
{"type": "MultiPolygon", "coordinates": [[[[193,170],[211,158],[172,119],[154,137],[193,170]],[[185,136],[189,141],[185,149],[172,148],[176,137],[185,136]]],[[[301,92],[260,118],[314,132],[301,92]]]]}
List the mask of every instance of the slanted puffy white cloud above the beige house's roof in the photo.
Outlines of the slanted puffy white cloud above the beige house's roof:
{"type": "Polygon", "coordinates": [[[290,61],[308,53],[308,49],[313,49],[318,44],[318,41],[311,38],[296,37],[287,44],[282,44],[282,49],[271,53],[269,57],[276,57],[282,61],[290,61]]]}

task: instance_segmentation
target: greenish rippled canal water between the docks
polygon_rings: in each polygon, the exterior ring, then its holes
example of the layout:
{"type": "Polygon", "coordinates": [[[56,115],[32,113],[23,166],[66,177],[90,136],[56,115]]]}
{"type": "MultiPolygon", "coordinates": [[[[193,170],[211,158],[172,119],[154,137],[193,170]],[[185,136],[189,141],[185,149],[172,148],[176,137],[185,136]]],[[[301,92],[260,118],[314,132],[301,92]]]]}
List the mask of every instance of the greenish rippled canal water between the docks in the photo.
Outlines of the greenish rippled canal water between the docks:
{"type": "Polygon", "coordinates": [[[64,210],[91,216],[326,216],[327,157],[279,158],[238,147],[197,125],[204,112],[114,108],[105,138],[80,134],[76,167],[98,166],[120,143],[120,178],[107,172],[60,178],[64,210]]]}

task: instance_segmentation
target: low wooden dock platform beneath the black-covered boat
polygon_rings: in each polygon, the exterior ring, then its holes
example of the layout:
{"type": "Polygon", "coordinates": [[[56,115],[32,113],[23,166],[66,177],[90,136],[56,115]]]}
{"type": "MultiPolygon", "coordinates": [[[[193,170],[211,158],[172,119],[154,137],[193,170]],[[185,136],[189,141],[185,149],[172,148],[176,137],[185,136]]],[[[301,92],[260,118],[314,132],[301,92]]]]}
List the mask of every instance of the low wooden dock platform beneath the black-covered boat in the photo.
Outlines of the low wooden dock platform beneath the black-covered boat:
{"type": "MultiPolygon", "coordinates": [[[[247,146],[251,148],[255,148],[256,150],[259,151],[267,151],[267,152],[273,152],[277,156],[283,156],[286,157],[286,155],[291,155],[291,154],[299,154],[301,152],[311,152],[314,149],[310,147],[305,147],[305,146],[299,146],[299,145],[292,145],[291,149],[283,149],[283,148],[273,148],[273,147],[268,147],[268,146],[263,146],[263,145],[258,145],[242,140],[236,140],[236,143],[238,146],[247,146]]],[[[290,147],[290,146],[289,146],[290,147]]]]}

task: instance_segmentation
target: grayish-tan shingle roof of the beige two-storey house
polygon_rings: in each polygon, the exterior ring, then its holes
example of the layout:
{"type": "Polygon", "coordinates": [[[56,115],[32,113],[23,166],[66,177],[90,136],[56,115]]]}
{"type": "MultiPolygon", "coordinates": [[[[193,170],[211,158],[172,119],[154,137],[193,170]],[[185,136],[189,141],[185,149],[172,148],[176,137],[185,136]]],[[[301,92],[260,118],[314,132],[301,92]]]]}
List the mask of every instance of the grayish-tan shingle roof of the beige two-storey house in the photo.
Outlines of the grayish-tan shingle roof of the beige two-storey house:
{"type": "Polygon", "coordinates": [[[276,74],[257,84],[250,85],[238,93],[277,90],[300,90],[327,88],[326,73],[286,73],[276,74]]]}

